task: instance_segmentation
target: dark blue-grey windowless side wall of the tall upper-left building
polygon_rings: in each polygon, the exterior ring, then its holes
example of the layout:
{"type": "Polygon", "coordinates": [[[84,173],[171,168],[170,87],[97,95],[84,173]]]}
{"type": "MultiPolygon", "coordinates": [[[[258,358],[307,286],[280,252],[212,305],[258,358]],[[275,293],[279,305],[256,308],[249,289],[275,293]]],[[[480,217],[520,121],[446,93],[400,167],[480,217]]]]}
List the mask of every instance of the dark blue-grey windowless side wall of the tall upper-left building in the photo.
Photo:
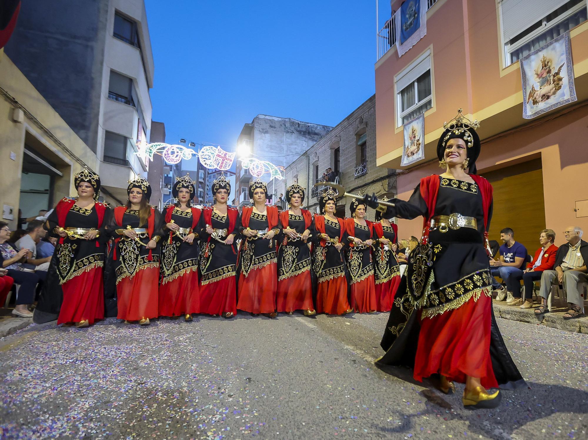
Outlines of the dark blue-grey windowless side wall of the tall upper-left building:
{"type": "Polygon", "coordinates": [[[22,1],[6,54],[92,151],[108,1],[22,1]],[[65,14],[64,11],[67,11],[65,14]]]}

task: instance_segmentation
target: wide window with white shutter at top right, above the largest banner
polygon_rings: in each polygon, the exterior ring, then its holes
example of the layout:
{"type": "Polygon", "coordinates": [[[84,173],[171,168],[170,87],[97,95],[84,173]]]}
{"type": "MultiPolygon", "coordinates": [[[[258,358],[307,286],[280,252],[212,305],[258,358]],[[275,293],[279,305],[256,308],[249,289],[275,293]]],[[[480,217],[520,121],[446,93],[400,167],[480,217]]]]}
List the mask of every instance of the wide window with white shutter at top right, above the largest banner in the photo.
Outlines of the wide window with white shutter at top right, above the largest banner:
{"type": "Polygon", "coordinates": [[[502,0],[505,67],[588,19],[587,0],[502,0]]]}

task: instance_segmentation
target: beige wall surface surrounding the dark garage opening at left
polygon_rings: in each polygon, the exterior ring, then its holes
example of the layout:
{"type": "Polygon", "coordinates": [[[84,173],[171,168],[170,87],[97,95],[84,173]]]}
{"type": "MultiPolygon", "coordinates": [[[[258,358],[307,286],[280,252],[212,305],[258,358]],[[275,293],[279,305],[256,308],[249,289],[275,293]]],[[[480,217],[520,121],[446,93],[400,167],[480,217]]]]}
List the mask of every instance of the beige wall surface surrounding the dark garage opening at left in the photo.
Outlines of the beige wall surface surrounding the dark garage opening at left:
{"type": "MultiPolygon", "coordinates": [[[[16,122],[14,111],[17,106],[9,96],[0,94],[0,206],[12,206],[14,212],[18,212],[25,136],[27,144],[34,148],[35,153],[54,164],[63,174],[55,178],[54,201],[76,194],[74,174],[82,170],[83,164],[96,170],[96,155],[36,91],[3,51],[0,51],[0,88],[38,121],[33,121],[23,112],[22,122],[16,122]],[[44,128],[61,141],[65,148],[55,142],[44,128]],[[12,153],[14,160],[11,159],[12,153]]],[[[16,215],[9,224],[13,229],[16,227],[16,215]]]]}

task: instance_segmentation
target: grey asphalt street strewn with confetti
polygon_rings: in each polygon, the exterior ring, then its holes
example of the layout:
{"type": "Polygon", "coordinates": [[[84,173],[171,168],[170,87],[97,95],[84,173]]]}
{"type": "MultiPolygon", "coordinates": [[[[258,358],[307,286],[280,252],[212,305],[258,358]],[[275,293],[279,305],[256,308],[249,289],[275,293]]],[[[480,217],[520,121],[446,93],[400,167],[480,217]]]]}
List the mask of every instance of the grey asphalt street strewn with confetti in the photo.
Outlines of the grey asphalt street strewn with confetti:
{"type": "Polygon", "coordinates": [[[386,320],[30,325],[0,340],[0,438],[588,438],[588,335],[497,319],[529,388],[470,411],[376,368],[386,320]]]}

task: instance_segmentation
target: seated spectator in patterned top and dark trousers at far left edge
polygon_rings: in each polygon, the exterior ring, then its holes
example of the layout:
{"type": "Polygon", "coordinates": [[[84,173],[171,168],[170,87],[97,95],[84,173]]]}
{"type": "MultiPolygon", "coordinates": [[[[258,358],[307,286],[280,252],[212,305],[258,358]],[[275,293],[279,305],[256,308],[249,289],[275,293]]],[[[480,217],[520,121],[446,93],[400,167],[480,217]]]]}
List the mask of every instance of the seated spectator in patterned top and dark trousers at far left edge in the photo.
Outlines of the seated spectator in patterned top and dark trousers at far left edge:
{"type": "Polygon", "coordinates": [[[9,236],[8,224],[0,222],[0,267],[7,269],[8,276],[21,286],[16,296],[16,306],[12,314],[22,316],[22,318],[32,318],[33,314],[29,312],[28,307],[35,299],[35,288],[39,282],[41,272],[35,272],[23,266],[31,249],[22,248],[17,251],[15,246],[8,242],[9,236]]]}

